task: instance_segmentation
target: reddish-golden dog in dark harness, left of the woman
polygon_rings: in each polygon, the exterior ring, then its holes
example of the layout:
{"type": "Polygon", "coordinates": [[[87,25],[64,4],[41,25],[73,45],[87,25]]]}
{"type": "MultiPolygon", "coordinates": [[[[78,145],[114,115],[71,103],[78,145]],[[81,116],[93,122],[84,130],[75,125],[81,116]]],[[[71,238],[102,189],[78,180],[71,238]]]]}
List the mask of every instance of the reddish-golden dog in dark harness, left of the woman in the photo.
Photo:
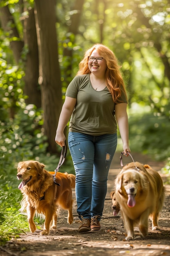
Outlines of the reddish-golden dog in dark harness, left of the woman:
{"type": "Polygon", "coordinates": [[[33,221],[35,212],[42,213],[45,221],[40,234],[48,235],[52,220],[52,228],[57,227],[58,207],[68,210],[68,223],[73,222],[72,188],[75,188],[75,175],[57,172],[57,185],[52,175],[55,172],[46,171],[44,167],[38,161],[19,162],[17,178],[22,180],[18,189],[23,194],[21,205],[22,210],[26,208],[30,231],[33,233],[36,230],[33,221]]]}

